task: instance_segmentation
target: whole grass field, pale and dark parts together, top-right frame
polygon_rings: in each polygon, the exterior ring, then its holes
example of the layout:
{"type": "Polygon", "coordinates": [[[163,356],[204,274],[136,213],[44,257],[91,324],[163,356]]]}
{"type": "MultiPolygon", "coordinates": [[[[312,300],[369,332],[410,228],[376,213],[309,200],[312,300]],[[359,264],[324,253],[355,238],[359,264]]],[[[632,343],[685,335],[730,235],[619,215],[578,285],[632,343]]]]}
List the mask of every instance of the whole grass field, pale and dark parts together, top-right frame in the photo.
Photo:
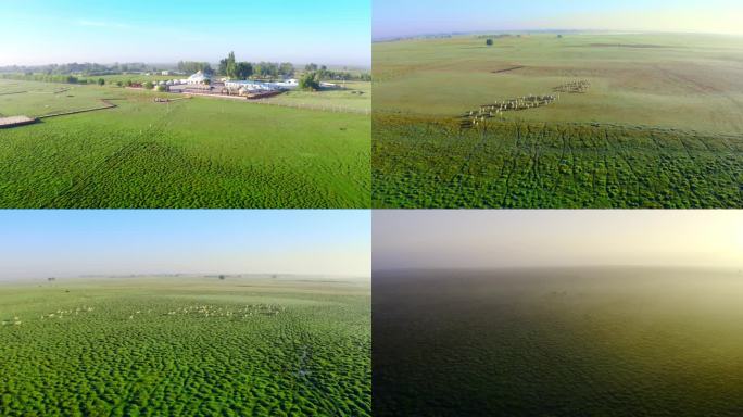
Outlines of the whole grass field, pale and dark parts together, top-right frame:
{"type": "Polygon", "coordinates": [[[740,37],[524,34],[494,38],[492,47],[480,36],[377,42],[374,71],[375,206],[743,206],[740,37]],[[570,92],[575,85],[583,88],[570,92]],[[479,113],[530,94],[555,100],[492,117],[479,113]],[[524,126],[537,131],[528,142],[514,136],[524,126]],[[494,173],[504,160],[517,177],[540,178],[502,187],[504,176],[494,173]],[[596,181],[585,186],[584,175],[604,172],[625,185],[605,192],[596,181]],[[683,180],[669,187],[669,176],[683,180]],[[695,182],[718,197],[700,198],[695,182]],[[643,195],[638,184],[654,195],[643,195]]]}

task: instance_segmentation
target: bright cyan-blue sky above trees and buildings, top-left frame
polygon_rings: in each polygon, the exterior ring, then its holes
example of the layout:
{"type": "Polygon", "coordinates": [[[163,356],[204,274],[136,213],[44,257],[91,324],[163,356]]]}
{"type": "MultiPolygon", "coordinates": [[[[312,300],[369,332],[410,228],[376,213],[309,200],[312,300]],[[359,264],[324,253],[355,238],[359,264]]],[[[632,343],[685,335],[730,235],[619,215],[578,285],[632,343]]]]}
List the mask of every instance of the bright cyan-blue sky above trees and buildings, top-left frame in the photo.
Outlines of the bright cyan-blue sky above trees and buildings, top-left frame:
{"type": "Polygon", "coordinates": [[[370,65],[369,0],[0,0],[0,65],[238,60],[370,65]]]}

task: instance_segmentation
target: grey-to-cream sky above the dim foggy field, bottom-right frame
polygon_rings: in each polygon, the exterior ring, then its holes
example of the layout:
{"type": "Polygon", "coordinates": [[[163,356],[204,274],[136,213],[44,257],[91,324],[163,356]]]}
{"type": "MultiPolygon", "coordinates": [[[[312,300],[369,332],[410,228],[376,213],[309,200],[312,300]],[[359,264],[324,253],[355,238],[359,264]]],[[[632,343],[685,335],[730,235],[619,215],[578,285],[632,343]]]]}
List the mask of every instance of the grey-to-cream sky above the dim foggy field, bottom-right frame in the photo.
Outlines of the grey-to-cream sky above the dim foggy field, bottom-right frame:
{"type": "Polygon", "coordinates": [[[743,211],[375,211],[374,269],[743,267],[743,211]]]}

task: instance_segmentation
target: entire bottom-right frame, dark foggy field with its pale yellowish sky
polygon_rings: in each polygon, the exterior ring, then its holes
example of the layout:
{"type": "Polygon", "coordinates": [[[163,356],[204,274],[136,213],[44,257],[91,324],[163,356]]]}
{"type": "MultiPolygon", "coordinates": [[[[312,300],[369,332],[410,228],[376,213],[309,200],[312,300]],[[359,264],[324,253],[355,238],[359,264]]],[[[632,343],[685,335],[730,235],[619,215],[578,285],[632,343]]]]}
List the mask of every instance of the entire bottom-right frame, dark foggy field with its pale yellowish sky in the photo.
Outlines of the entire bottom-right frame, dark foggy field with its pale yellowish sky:
{"type": "Polygon", "coordinates": [[[375,416],[741,416],[742,267],[734,211],[375,212],[375,416]]]}

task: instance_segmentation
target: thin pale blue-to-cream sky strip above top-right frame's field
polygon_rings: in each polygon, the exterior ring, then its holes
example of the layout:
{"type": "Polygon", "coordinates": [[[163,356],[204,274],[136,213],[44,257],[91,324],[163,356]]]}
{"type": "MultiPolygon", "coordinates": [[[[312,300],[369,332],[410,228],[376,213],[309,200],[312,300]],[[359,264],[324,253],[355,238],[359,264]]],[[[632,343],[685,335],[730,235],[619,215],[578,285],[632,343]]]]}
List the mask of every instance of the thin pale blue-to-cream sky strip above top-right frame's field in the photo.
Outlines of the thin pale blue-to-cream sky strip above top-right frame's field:
{"type": "Polygon", "coordinates": [[[374,38],[483,30],[743,34],[741,0],[373,0],[374,38]]]}

